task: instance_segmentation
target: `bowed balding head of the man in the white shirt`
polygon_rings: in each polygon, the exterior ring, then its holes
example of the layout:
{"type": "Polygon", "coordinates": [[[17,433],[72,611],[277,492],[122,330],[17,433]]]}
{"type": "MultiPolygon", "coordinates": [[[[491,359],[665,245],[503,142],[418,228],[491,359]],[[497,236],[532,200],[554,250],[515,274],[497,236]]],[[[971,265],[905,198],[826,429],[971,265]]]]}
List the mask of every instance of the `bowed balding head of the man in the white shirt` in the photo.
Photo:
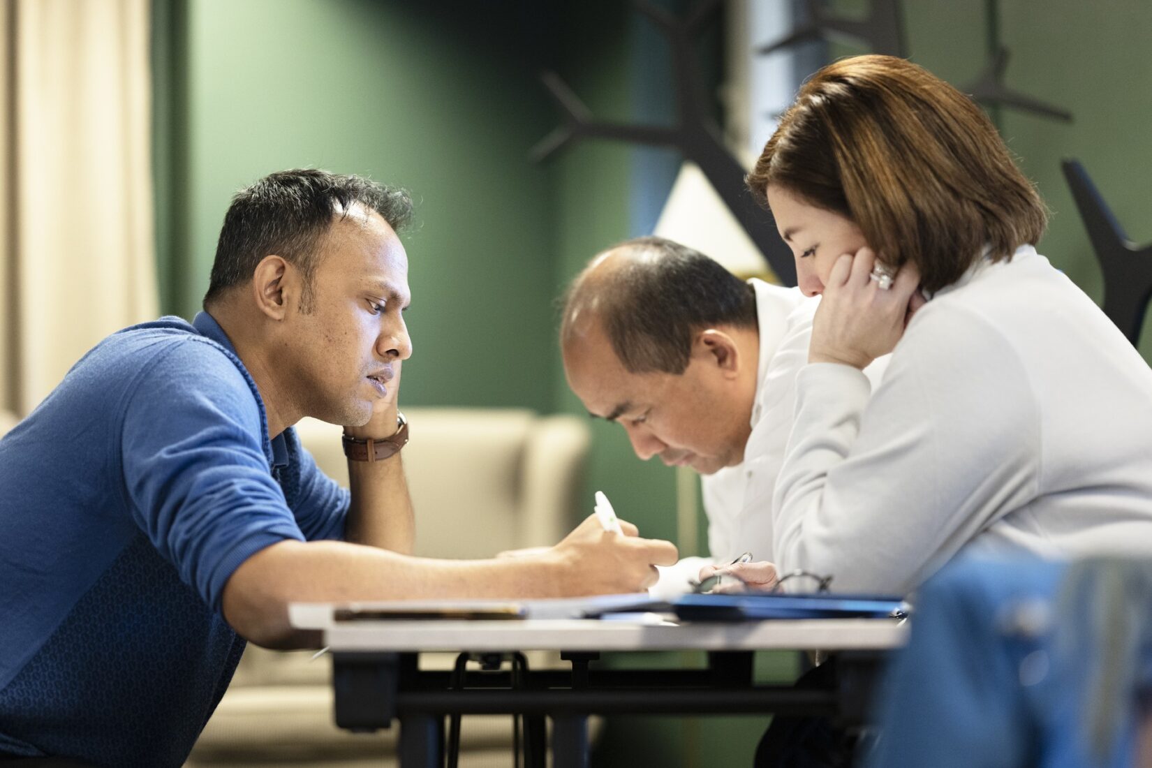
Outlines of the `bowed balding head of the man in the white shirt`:
{"type": "Polygon", "coordinates": [[[756,397],[756,294],[719,264],[659,237],[622,243],[573,282],[564,377],[641,458],[711,473],[743,461],[756,397]]]}

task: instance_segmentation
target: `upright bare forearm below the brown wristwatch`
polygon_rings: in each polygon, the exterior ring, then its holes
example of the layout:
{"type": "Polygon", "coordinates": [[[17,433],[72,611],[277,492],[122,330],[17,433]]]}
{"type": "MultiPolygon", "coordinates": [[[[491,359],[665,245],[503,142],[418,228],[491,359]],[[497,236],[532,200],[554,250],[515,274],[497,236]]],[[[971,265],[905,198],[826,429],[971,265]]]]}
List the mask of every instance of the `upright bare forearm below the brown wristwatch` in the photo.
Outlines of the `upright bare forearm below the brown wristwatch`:
{"type": "Polygon", "coordinates": [[[400,451],[380,462],[348,462],[353,502],[344,538],[410,555],[416,543],[416,520],[408,495],[400,451]]]}

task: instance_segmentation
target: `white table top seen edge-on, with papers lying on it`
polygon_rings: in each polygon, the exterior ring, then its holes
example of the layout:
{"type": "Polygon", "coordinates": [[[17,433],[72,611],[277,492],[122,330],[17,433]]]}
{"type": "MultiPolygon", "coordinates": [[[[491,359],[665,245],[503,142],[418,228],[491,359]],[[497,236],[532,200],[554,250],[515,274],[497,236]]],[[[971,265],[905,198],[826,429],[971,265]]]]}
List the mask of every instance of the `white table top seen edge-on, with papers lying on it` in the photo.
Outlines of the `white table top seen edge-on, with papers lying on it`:
{"type": "MultiPolygon", "coordinates": [[[[759,622],[660,621],[654,614],[604,619],[336,621],[335,610],[373,603],[293,603],[297,629],[321,630],[332,651],[823,651],[902,646],[908,625],[890,618],[808,618],[759,622]]],[[[380,603],[382,604],[382,603],[380,603]]],[[[394,604],[394,603],[392,603],[394,604]]]]}

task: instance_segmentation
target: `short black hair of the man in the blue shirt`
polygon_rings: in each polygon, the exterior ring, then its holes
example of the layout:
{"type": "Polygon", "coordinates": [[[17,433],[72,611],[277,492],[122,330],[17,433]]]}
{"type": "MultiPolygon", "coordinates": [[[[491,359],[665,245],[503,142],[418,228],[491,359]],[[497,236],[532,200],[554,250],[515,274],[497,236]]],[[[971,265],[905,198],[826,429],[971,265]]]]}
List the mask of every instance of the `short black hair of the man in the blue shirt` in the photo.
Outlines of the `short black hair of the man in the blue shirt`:
{"type": "Polygon", "coordinates": [[[396,231],[412,215],[412,200],[402,189],[311,168],[281,170],[236,192],[220,228],[204,305],[247,283],[256,265],[275,253],[303,273],[301,310],[309,312],[320,237],[334,216],[343,218],[357,203],[379,213],[396,231]]]}

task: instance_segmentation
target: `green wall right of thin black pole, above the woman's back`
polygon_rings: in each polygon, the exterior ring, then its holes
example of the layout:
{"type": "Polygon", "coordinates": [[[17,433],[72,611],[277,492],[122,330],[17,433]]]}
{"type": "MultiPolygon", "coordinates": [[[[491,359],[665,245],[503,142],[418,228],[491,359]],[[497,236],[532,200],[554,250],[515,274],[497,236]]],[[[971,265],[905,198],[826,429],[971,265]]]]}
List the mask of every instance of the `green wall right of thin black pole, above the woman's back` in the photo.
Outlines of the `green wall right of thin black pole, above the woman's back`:
{"type": "MultiPolygon", "coordinates": [[[[1041,252],[1100,301],[1099,267],[1059,164],[1083,162],[1128,236],[1152,241],[1152,5],[1064,0],[1044,12],[1033,5],[1001,2],[1003,43],[1020,51],[1009,63],[1010,82],[1069,109],[1075,122],[1006,109],[1001,124],[1053,211],[1041,252]]],[[[1152,315],[1140,351],[1152,362],[1152,315]]]]}

